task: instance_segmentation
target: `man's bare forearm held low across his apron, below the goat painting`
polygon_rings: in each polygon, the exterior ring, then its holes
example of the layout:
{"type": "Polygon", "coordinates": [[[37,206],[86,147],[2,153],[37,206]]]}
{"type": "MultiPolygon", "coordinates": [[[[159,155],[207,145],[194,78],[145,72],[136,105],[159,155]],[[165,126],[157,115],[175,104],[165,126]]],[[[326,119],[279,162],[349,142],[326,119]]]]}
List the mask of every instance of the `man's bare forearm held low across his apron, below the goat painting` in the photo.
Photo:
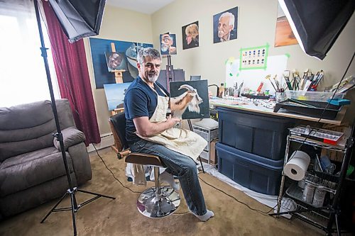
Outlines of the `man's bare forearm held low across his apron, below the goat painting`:
{"type": "Polygon", "coordinates": [[[161,123],[151,123],[151,121],[149,121],[148,119],[148,116],[133,118],[133,123],[136,126],[138,135],[141,135],[143,137],[153,136],[162,133],[164,130],[172,128],[178,122],[180,122],[180,119],[171,118],[171,115],[165,122],[161,123]]]}

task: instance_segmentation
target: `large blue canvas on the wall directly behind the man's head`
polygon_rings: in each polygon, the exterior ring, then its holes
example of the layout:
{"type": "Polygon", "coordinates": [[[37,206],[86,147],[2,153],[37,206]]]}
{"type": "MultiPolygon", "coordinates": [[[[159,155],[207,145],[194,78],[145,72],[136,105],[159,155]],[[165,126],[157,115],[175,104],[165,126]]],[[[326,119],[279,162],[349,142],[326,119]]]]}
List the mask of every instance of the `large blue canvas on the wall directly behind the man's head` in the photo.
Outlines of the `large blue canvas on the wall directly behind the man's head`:
{"type": "Polygon", "coordinates": [[[114,73],[109,72],[105,52],[111,52],[111,43],[114,43],[116,52],[124,55],[126,72],[123,72],[124,82],[132,82],[138,76],[136,68],[137,48],[153,47],[149,43],[133,43],[119,40],[107,40],[102,38],[89,38],[92,56],[92,67],[97,89],[104,89],[104,84],[115,84],[114,73]]]}

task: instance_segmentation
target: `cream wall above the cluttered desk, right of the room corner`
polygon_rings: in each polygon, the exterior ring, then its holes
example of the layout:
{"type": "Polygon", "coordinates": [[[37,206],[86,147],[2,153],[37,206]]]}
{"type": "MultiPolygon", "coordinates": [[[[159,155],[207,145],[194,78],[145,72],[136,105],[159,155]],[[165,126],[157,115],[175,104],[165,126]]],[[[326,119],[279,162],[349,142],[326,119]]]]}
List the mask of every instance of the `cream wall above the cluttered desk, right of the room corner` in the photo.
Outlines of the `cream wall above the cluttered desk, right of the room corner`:
{"type": "MultiPolygon", "coordinates": [[[[355,50],[355,16],[352,16],[337,42],[323,61],[305,55],[299,45],[274,47],[278,0],[177,0],[153,13],[153,44],[159,45],[159,34],[170,32],[177,36],[178,55],[172,57],[175,68],[185,69],[186,78],[201,74],[209,84],[224,82],[224,62],[229,57],[239,58],[241,47],[255,47],[268,43],[269,55],[288,53],[288,69],[312,72],[323,69],[325,79],[320,87],[338,82],[355,50]],[[239,6],[238,38],[224,43],[213,43],[213,15],[239,6]],[[199,21],[200,47],[182,50],[181,27],[199,21]]],[[[349,74],[354,74],[352,63],[349,74]]]]}

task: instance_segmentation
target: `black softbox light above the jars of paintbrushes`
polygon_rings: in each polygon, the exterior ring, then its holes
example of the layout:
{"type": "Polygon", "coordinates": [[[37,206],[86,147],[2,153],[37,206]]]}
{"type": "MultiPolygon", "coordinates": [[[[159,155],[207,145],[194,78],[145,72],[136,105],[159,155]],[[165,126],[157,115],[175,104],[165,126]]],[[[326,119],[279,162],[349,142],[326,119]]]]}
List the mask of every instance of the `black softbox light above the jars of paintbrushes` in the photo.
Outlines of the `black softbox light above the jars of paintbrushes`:
{"type": "Polygon", "coordinates": [[[279,0],[302,50],[323,60],[351,15],[354,0],[279,0]]]}

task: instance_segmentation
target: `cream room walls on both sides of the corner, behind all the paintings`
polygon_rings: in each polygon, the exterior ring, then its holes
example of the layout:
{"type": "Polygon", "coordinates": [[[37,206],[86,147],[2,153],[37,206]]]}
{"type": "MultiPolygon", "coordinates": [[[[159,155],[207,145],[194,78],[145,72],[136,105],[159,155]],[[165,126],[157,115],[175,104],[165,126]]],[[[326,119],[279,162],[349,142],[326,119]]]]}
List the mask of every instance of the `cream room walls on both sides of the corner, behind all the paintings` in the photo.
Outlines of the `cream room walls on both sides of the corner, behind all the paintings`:
{"type": "MultiPolygon", "coordinates": [[[[168,31],[175,33],[178,47],[178,55],[172,58],[175,69],[184,69],[187,79],[191,74],[201,74],[203,79],[209,80],[209,84],[224,82],[224,62],[231,56],[239,58],[241,47],[254,47],[268,43],[271,45],[269,55],[286,53],[290,55],[289,70],[297,69],[303,72],[309,68],[312,72],[317,72],[323,69],[325,77],[320,87],[338,82],[355,51],[355,16],[351,17],[327,57],[320,61],[305,55],[299,45],[273,47],[277,13],[277,0],[176,0],[151,16],[107,6],[100,35],[97,38],[153,43],[155,48],[159,49],[159,34],[168,31]],[[239,6],[238,38],[214,44],[213,15],[235,6],[239,6]],[[182,50],[181,27],[194,21],[199,21],[200,47],[182,50]]],[[[94,86],[89,40],[84,39],[84,43],[99,130],[103,135],[111,132],[107,122],[110,113],[104,89],[96,89],[94,86]]],[[[163,64],[165,61],[163,60],[163,64]]],[[[347,75],[354,74],[354,64],[353,62],[347,75]]]]}

